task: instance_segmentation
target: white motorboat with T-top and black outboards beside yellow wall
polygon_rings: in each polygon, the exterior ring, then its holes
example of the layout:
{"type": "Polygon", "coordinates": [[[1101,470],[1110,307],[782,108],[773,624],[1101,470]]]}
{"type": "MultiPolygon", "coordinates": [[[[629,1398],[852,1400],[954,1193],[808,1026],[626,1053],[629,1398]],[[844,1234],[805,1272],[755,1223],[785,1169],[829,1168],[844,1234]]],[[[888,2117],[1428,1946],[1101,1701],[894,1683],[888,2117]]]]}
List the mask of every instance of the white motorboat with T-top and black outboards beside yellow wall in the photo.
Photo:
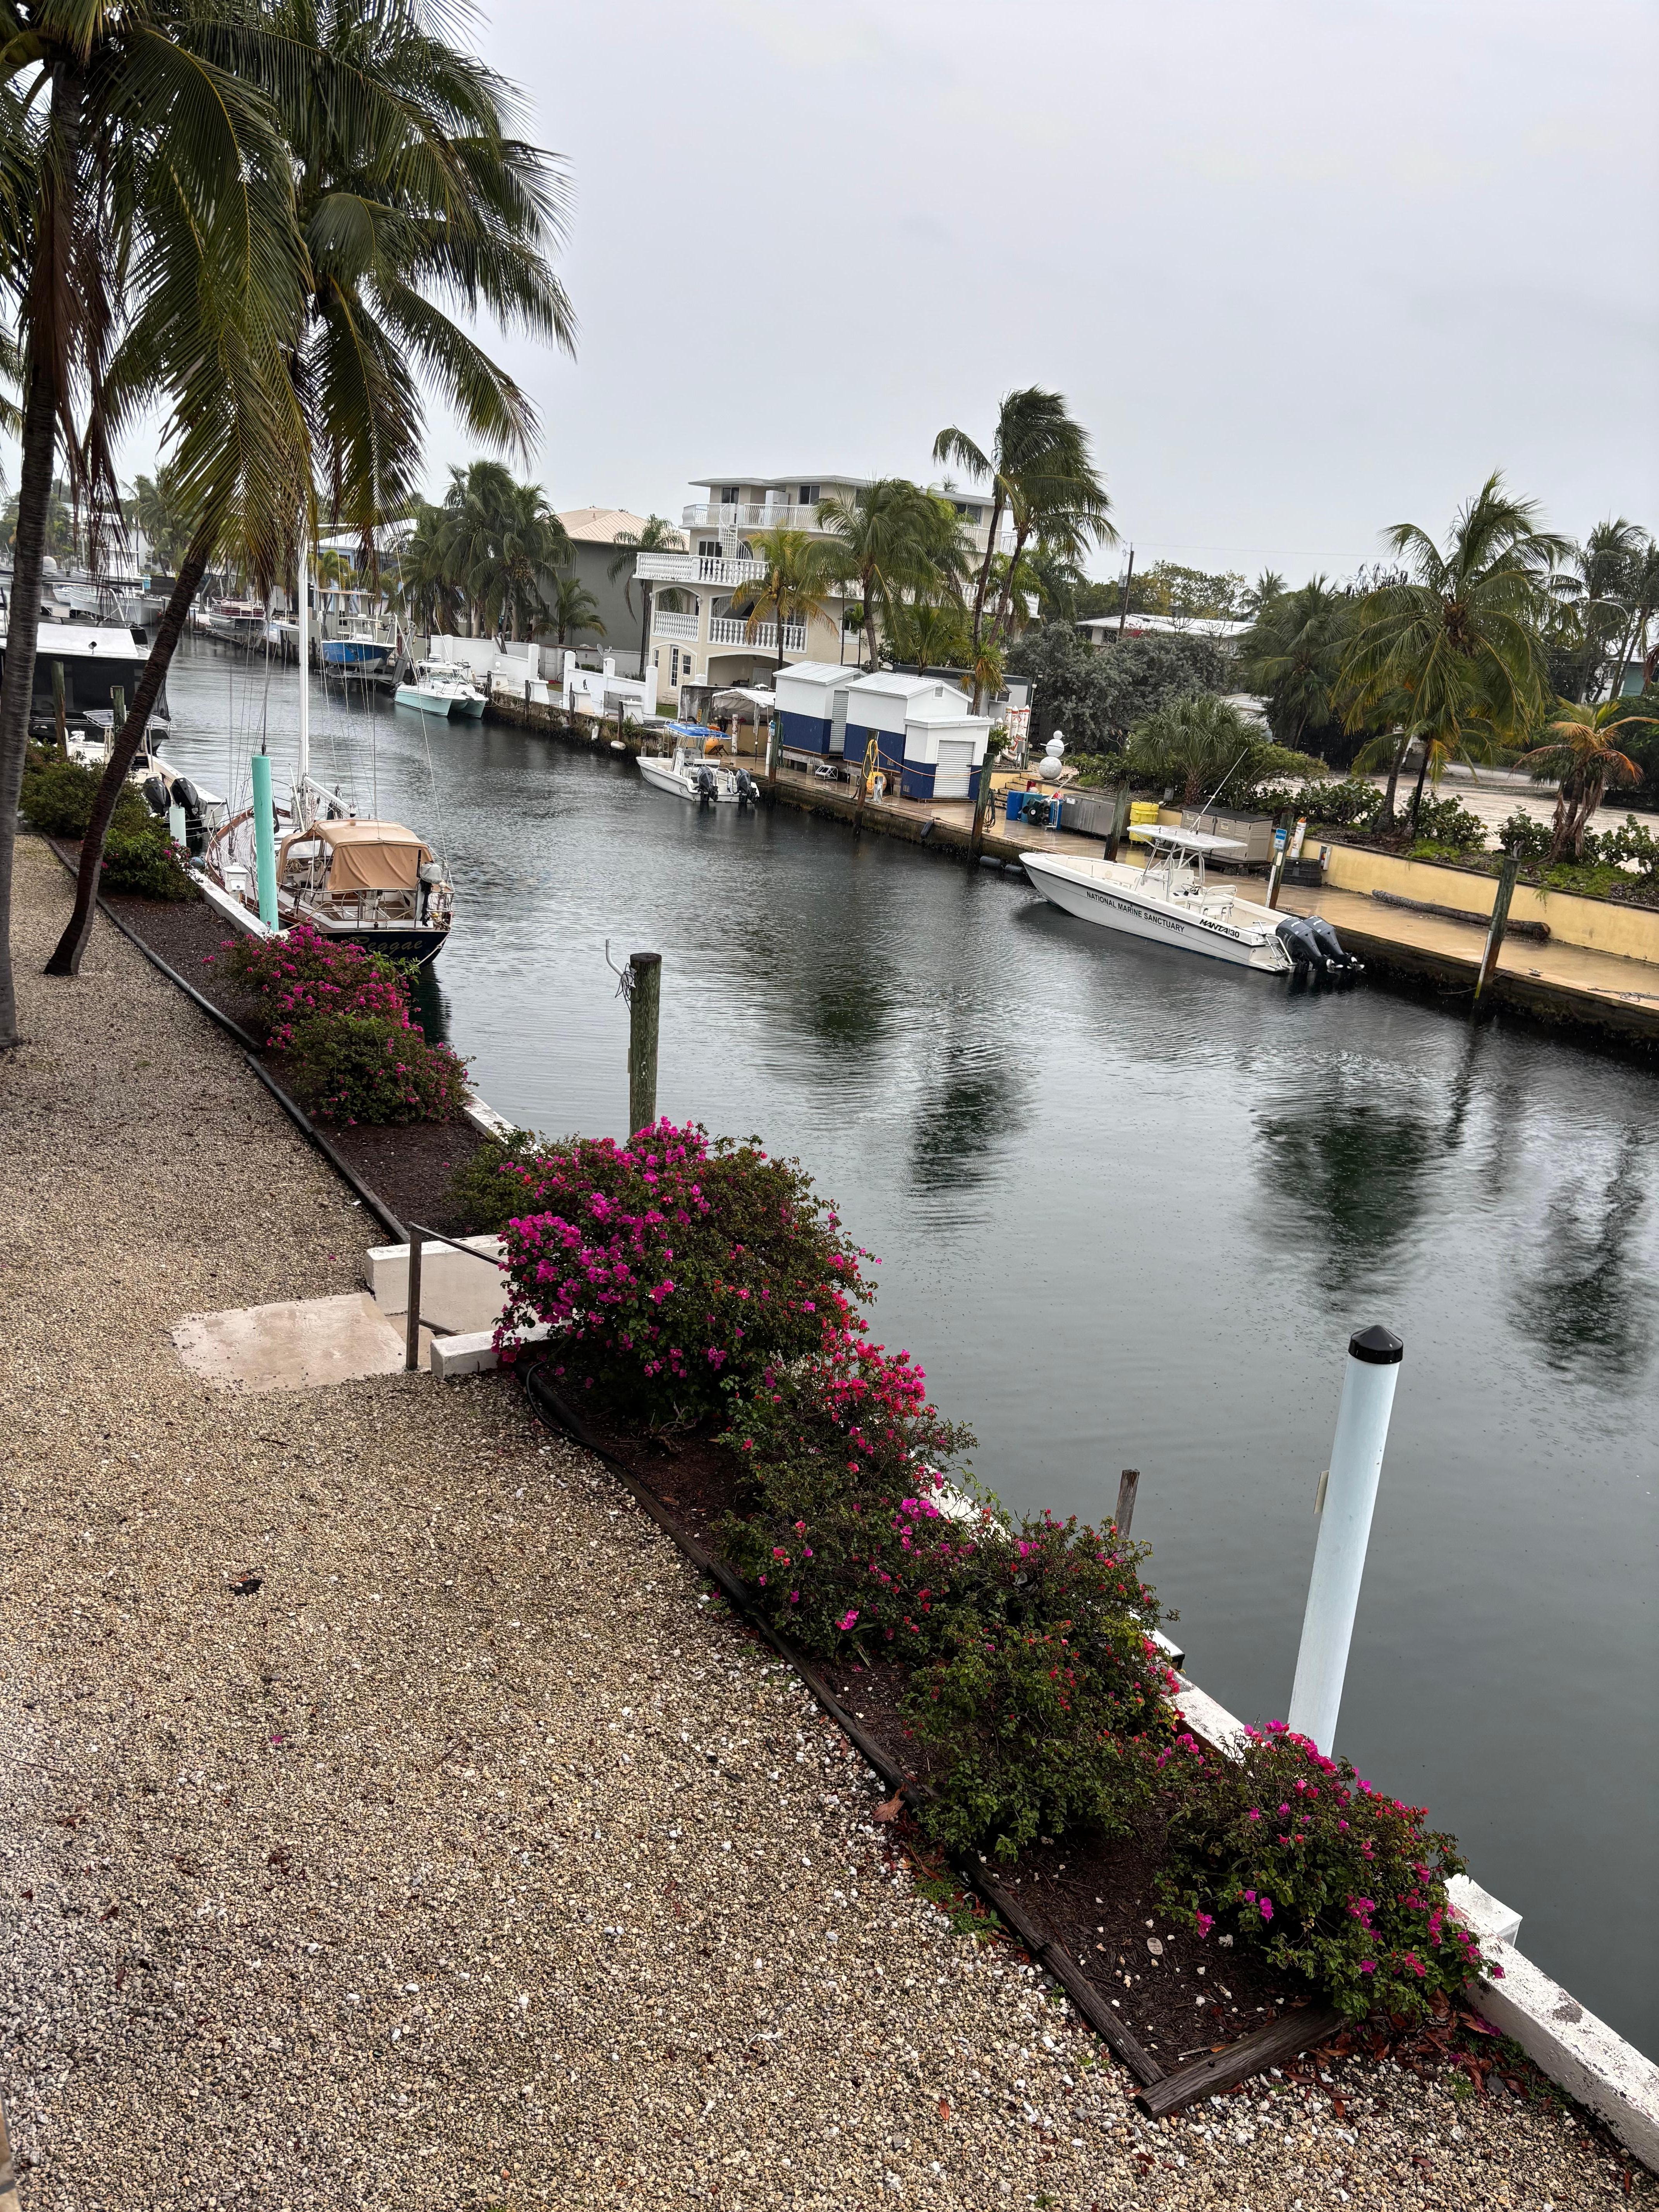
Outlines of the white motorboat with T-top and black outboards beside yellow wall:
{"type": "Polygon", "coordinates": [[[1239,838],[1168,823],[1133,823],[1128,834],[1148,847],[1146,867],[1060,852],[1022,852],[1020,863],[1044,898],[1099,929],[1177,945],[1265,975],[1301,967],[1358,969],[1329,922],[1276,914],[1239,898],[1230,885],[1206,880],[1212,854],[1245,852],[1239,838]]]}

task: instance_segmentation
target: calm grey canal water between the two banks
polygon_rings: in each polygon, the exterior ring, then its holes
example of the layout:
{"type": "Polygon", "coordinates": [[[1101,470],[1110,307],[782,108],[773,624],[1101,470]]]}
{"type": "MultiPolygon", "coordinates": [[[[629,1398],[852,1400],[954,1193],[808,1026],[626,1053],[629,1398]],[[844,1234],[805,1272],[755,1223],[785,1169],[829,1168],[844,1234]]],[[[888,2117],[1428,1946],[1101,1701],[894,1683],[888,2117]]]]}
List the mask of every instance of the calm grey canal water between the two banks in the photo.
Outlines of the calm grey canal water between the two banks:
{"type": "MultiPolygon", "coordinates": [[[[281,787],[296,681],[232,688],[197,646],[175,761],[223,787],[263,728],[281,787]]],[[[1141,1469],[1190,1670],[1248,1719],[1290,1701],[1347,1336],[1405,1338],[1338,1750],[1659,2053],[1655,1077],[1102,938],[790,810],[697,812],[608,750],[314,697],[319,768],[338,748],[447,847],[438,982],[482,1095],[624,1135],[606,942],[661,951],[661,1110],[841,1201],[874,1334],[1011,1504],[1099,1517],[1141,1469]]]]}

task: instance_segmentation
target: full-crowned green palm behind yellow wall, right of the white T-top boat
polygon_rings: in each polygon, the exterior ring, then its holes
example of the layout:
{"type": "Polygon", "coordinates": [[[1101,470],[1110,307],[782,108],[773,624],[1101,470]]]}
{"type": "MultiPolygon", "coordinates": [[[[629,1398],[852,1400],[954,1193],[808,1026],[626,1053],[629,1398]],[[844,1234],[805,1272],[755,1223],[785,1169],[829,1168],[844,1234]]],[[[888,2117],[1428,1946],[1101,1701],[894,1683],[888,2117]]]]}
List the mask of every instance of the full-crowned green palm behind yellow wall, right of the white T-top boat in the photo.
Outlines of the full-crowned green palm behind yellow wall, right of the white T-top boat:
{"type": "Polygon", "coordinates": [[[1544,695],[1544,577],[1566,546],[1537,526],[1537,507],[1513,498],[1495,471],[1458,509],[1444,551],[1416,522],[1398,522],[1385,544],[1407,575],[1360,604],[1340,681],[1349,730],[1365,728],[1391,695],[1407,697],[1402,719],[1422,734],[1416,832],[1431,770],[1535,721],[1544,695]]]}

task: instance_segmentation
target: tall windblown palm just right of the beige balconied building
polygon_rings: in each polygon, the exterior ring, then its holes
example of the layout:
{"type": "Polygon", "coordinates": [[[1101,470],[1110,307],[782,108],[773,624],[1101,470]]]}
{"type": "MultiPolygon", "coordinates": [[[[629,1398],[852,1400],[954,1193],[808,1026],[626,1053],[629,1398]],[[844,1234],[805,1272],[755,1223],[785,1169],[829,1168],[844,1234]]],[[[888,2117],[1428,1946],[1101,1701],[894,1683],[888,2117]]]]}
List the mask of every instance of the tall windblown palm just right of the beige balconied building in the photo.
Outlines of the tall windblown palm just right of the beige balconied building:
{"type": "MultiPolygon", "coordinates": [[[[1057,392],[1042,392],[1035,385],[1009,392],[998,409],[989,453],[964,429],[951,425],[933,440],[933,460],[951,462],[967,469],[975,482],[991,484],[991,526],[973,588],[971,637],[975,655],[984,635],[984,599],[1004,515],[1013,515],[1015,562],[1033,538],[1046,538],[1071,557],[1082,555],[1091,542],[1117,542],[1117,531],[1110,524],[1110,500],[1088,449],[1088,431],[1073,420],[1057,392]]],[[[1006,619],[1006,588],[1004,580],[993,622],[998,630],[1006,619]]],[[[975,714],[980,697],[975,686],[975,714]]]]}

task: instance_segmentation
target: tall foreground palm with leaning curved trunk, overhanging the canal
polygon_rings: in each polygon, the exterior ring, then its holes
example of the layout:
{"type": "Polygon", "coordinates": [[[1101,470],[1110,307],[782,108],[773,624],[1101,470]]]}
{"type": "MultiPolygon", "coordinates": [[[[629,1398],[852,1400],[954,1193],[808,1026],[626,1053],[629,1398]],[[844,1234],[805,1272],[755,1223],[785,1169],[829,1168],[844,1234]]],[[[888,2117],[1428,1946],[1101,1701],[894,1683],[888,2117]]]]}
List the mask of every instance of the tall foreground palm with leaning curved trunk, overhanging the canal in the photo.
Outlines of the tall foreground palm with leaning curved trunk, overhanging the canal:
{"type": "MultiPolygon", "coordinates": [[[[184,0],[133,0],[133,13],[124,11],[122,20],[137,22],[144,9],[159,4],[184,9],[184,0]]],[[[184,465],[197,453],[201,469],[201,453],[212,456],[217,476],[212,489],[201,480],[197,538],[179,571],[179,584],[195,573],[190,595],[201,582],[195,555],[206,562],[223,542],[230,502],[237,542],[252,546],[259,540],[250,566],[265,577],[279,564],[272,533],[283,542],[283,564],[299,531],[314,535],[312,456],[332,520],[358,533],[365,566],[374,571],[378,526],[414,504],[425,387],[478,438],[531,447],[533,407],[447,310],[467,316],[482,310],[504,327],[573,347],[571,307],[549,261],[564,230],[562,175],[553,157],[515,135],[513,88],[476,55],[447,44],[405,0],[341,0],[321,15],[312,0],[263,0],[259,7],[215,0],[184,20],[201,46],[204,69],[237,86],[237,97],[252,102],[261,122],[274,117],[281,142],[274,161],[263,148],[254,161],[252,139],[241,157],[230,148],[215,179],[221,197],[226,179],[234,181],[230,250],[241,250],[250,281],[228,254],[219,257],[223,268],[201,268],[199,241],[210,239],[212,228],[181,201],[177,181],[168,188],[166,161],[177,159],[177,128],[175,117],[166,119],[161,204],[177,237],[150,257],[157,283],[148,325],[122,343],[111,372],[113,394],[131,414],[173,376],[184,394],[173,458],[184,465]],[[270,210],[259,197],[263,179],[270,179],[270,210]],[[294,239],[296,221],[303,239],[294,239]],[[290,239],[301,283],[281,327],[285,409],[272,411],[261,436],[254,380],[239,365],[241,356],[204,347],[192,332],[204,299],[246,321],[252,303],[272,296],[276,274],[288,270],[290,239]],[[239,380],[248,385],[234,403],[237,434],[228,442],[219,389],[226,376],[232,396],[239,380]],[[303,489],[292,480],[301,460],[303,489]],[[261,493],[259,480],[272,471],[285,489],[261,493]]],[[[199,73],[186,84],[186,97],[199,106],[210,104],[210,91],[199,73]]],[[[119,241],[119,232],[113,237],[119,241]]],[[[257,356],[261,365],[265,349],[257,356]]],[[[188,469],[186,484],[195,489],[188,469]]],[[[507,555],[504,564],[511,586],[507,555]]],[[[168,608],[139,697],[153,668],[159,688],[177,635],[168,608]]],[[[88,832],[82,843],[75,918],[53,953],[53,971],[73,971],[86,945],[104,825],[142,732],[135,703],[104,772],[93,814],[97,834],[88,832]]]]}

